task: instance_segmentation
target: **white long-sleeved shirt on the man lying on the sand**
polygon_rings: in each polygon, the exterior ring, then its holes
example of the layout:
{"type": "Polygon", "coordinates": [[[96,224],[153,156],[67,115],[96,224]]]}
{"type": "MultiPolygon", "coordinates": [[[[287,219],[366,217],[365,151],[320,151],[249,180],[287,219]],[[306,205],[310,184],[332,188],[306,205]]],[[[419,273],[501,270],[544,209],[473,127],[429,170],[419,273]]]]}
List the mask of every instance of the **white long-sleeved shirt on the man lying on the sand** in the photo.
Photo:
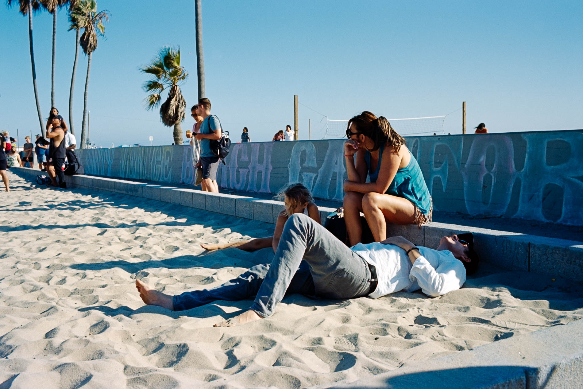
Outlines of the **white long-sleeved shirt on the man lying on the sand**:
{"type": "Polygon", "coordinates": [[[466,281],[462,261],[448,250],[419,246],[421,256],[411,264],[405,250],[392,244],[359,243],[351,248],[377,270],[377,289],[368,295],[373,299],[399,290],[419,289],[427,296],[437,297],[461,288],[466,281]]]}

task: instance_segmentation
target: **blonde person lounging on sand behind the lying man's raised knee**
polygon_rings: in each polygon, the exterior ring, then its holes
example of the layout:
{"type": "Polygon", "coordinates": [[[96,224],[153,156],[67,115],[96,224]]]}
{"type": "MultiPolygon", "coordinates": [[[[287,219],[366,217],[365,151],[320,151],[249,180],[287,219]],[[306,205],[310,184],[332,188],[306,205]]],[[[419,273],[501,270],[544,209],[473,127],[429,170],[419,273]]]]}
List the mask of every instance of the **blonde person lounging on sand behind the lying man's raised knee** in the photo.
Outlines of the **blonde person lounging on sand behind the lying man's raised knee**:
{"type": "Polygon", "coordinates": [[[202,248],[205,250],[222,250],[223,248],[237,247],[240,250],[255,251],[261,248],[273,247],[273,251],[275,252],[278,248],[279,239],[282,236],[283,225],[285,225],[290,215],[304,213],[317,223],[321,223],[320,212],[314,204],[314,198],[312,198],[312,194],[304,185],[291,184],[285,190],[280,190],[276,198],[280,201],[283,200],[286,210],[279,213],[273,236],[223,244],[203,243],[201,244],[202,248]]]}

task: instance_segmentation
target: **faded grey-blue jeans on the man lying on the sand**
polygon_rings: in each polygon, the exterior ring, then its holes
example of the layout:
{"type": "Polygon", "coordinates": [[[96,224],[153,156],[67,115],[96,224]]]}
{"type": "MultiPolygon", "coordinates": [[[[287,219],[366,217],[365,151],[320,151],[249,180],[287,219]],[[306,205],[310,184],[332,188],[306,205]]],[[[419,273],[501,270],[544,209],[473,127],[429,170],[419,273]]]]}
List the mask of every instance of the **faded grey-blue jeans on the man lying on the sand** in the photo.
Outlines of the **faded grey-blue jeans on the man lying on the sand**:
{"type": "Polygon", "coordinates": [[[319,223],[301,213],[287,219],[271,265],[257,265],[213,289],[173,297],[174,310],[187,310],[215,300],[237,301],[255,296],[251,309],[273,314],[289,293],[352,299],[367,296],[367,263],[319,223]]]}

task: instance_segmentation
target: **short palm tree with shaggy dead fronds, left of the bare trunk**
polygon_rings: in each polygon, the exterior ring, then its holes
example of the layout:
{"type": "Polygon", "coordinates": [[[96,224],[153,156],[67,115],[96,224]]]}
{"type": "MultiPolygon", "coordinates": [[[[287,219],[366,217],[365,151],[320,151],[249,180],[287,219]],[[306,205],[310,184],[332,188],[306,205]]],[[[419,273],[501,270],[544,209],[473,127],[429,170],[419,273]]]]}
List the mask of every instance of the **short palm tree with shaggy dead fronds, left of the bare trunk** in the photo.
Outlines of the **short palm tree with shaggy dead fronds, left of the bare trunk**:
{"type": "Polygon", "coordinates": [[[145,99],[147,110],[152,110],[160,105],[160,94],[169,87],[168,97],[160,106],[160,119],[167,127],[174,126],[174,144],[182,144],[182,129],[180,123],[184,121],[186,101],[182,97],[179,83],[184,83],[188,73],[180,66],[180,47],[165,46],[160,49],[158,55],[152,59],[149,65],[139,69],[152,75],[152,79],[146,81],[142,89],[150,93],[145,99]]]}

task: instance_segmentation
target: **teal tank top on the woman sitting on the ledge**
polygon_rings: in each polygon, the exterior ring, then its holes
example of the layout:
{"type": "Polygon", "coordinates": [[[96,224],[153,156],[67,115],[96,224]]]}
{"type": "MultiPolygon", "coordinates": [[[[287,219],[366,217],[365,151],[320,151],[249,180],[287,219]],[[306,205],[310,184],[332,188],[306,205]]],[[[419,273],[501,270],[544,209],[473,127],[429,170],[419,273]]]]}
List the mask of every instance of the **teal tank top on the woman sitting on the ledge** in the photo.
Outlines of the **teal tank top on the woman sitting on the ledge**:
{"type": "MultiPolygon", "coordinates": [[[[381,169],[382,152],[385,146],[382,145],[378,150],[378,164],[377,169],[371,171],[370,169],[370,152],[364,152],[364,160],[368,167],[368,177],[371,183],[377,182],[378,171],[381,169]]],[[[409,152],[410,153],[410,152],[409,152]]],[[[404,197],[415,204],[423,215],[427,215],[431,210],[431,195],[427,184],[423,178],[423,173],[419,167],[419,163],[411,154],[411,160],[406,167],[397,170],[393,182],[389,185],[386,194],[404,197]]]]}

